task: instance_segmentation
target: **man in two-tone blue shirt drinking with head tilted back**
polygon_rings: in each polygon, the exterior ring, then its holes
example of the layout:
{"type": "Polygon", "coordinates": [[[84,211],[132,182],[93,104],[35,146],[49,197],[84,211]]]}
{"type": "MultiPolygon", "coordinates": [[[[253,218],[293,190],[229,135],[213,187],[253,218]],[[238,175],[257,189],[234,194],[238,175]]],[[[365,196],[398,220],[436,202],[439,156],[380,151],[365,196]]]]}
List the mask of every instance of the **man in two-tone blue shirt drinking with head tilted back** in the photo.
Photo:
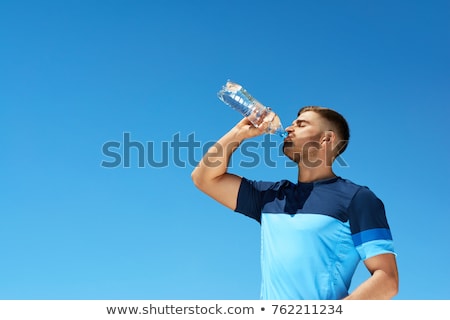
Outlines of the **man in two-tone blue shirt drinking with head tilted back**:
{"type": "Polygon", "coordinates": [[[332,163],[349,128],[336,111],[304,107],[286,128],[283,152],[298,164],[298,182],[250,181],[227,172],[232,153],[264,133],[240,121],[192,172],[203,192],[261,223],[262,299],[390,299],[398,271],[383,203],[366,187],[336,176],[332,163]],[[352,293],[363,260],[371,276],[352,293]]]}

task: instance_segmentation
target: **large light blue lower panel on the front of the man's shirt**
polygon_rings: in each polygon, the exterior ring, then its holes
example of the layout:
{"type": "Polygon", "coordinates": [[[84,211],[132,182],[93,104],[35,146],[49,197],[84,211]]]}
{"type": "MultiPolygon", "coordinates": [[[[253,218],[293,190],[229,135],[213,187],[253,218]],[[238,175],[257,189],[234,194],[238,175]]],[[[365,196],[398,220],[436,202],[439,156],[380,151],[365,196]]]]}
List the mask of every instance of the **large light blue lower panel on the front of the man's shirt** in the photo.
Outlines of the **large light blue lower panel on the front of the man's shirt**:
{"type": "Polygon", "coordinates": [[[261,228],[263,299],[340,299],[348,294],[360,261],[348,222],[322,214],[263,213],[261,228]]]}

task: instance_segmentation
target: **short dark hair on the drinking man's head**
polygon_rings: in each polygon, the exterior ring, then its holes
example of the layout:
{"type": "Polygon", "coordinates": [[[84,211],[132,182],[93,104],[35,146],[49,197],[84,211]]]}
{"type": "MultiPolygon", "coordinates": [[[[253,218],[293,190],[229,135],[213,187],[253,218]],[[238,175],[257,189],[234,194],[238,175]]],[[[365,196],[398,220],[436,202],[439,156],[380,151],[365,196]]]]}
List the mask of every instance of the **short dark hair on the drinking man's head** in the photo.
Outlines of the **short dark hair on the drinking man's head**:
{"type": "Polygon", "coordinates": [[[347,120],[337,111],[330,108],[319,106],[306,106],[300,109],[297,117],[304,112],[312,111],[318,113],[321,117],[331,122],[336,127],[336,135],[340,138],[337,144],[336,156],[342,154],[347,149],[348,142],[350,141],[350,128],[347,120]]]}

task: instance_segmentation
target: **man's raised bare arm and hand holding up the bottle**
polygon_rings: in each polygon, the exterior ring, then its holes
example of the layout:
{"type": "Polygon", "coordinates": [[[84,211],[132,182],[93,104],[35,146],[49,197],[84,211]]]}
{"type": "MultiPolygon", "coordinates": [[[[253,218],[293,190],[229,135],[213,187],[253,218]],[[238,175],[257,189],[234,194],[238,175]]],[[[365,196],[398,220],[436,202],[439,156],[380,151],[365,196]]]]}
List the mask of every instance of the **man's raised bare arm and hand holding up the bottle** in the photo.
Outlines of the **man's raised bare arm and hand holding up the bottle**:
{"type": "Polygon", "coordinates": [[[263,123],[256,128],[246,118],[240,121],[205,153],[191,174],[195,186],[235,210],[241,177],[228,173],[228,163],[242,141],[263,134],[266,127],[263,123]]]}

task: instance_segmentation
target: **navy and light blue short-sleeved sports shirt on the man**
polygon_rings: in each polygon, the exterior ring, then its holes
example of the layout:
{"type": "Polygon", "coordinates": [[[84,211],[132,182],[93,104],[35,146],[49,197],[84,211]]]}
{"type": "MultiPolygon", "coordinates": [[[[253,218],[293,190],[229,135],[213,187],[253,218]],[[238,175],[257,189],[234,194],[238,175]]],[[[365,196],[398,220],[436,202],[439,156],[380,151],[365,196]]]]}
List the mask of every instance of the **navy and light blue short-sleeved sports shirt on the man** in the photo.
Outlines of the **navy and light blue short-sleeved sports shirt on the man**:
{"type": "Polygon", "coordinates": [[[381,200],[340,177],[242,178],[235,211],[261,224],[261,299],[342,299],[359,261],[395,254],[381,200]]]}

